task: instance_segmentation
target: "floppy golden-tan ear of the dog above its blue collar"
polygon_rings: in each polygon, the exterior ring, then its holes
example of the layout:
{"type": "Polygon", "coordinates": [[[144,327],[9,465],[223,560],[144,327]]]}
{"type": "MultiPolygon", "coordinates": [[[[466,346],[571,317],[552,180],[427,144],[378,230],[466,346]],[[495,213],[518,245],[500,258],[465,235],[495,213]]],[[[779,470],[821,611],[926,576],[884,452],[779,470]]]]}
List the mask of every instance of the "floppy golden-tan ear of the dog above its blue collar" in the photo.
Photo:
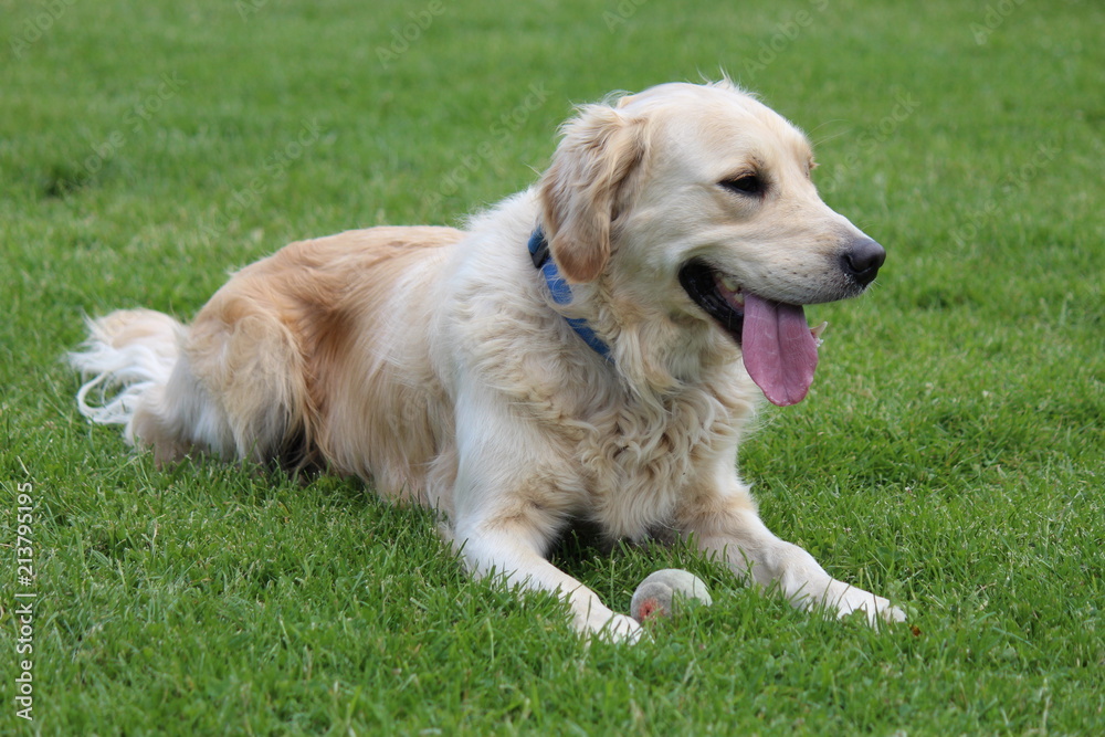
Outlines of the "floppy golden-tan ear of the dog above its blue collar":
{"type": "Polygon", "coordinates": [[[639,128],[606,105],[581,107],[562,128],[538,191],[549,251],[570,282],[594,280],[610,259],[618,188],[643,155],[639,128]]]}

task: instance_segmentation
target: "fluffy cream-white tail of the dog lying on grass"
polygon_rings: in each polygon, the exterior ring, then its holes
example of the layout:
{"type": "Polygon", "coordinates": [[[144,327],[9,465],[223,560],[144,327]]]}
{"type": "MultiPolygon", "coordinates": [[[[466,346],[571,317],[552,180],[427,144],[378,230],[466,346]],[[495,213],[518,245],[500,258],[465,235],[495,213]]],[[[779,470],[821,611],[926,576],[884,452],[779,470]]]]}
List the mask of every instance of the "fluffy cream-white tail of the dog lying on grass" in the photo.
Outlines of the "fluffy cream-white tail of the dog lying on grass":
{"type": "Polygon", "coordinates": [[[152,309],[119,309],[85,322],[88,339],[69,355],[86,379],[77,407],[93,422],[124,425],[133,444],[135,412],[164,391],[188,328],[152,309]]]}

